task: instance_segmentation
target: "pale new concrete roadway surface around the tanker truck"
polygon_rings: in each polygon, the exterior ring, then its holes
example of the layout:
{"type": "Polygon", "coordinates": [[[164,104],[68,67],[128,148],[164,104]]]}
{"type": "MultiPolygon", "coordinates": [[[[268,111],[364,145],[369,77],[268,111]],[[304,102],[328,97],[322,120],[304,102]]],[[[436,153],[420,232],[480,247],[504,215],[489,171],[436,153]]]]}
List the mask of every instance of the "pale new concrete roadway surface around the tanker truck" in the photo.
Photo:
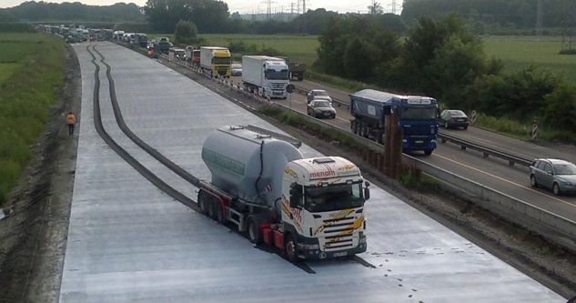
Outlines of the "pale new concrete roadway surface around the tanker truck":
{"type": "MultiPolygon", "coordinates": [[[[371,187],[365,267],[348,259],[306,262],[310,274],[217,225],[154,187],[98,136],[95,67],[86,44],[76,181],[60,302],[564,302],[565,299],[466,238],[371,187]]],[[[172,161],[209,178],[200,158],[219,126],[271,127],[166,66],[97,43],[112,66],[127,125],[172,161]]],[[[196,200],[116,126],[100,64],[106,131],[142,164],[196,200]]],[[[305,157],[318,156],[303,146],[305,157]]]]}

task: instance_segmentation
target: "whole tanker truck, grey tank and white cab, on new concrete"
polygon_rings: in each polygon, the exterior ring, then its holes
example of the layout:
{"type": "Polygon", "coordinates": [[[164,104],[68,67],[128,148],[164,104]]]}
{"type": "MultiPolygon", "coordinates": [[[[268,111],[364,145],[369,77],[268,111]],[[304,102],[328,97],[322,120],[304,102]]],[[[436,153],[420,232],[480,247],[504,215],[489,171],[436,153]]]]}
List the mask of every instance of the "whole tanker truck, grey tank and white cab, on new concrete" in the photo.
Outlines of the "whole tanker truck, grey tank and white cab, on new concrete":
{"type": "Polygon", "coordinates": [[[302,158],[301,143],[256,126],[225,126],[207,137],[198,207],[248,231],[286,258],[334,258],[366,251],[369,183],[342,157],[302,158]]]}

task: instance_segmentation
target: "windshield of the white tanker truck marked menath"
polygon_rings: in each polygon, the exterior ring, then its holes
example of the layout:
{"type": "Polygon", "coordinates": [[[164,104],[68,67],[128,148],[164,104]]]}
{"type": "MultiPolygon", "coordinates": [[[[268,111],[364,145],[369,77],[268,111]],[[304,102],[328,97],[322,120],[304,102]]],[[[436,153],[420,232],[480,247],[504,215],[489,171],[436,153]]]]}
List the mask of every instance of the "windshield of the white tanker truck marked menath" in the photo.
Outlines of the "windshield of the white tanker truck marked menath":
{"type": "Polygon", "coordinates": [[[361,183],[334,184],[328,187],[305,187],[305,205],[309,212],[333,211],[364,204],[361,183]]]}

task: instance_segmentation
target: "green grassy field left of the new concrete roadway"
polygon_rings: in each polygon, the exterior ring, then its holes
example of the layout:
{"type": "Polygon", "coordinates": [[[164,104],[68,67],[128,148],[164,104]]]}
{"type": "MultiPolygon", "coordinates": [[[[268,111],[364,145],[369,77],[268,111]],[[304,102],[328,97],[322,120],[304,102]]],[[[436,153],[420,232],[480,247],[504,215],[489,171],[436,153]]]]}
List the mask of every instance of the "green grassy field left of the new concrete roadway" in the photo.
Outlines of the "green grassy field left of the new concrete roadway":
{"type": "Polygon", "coordinates": [[[65,43],[56,35],[0,33],[0,206],[32,157],[62,86],[65,43]]]}

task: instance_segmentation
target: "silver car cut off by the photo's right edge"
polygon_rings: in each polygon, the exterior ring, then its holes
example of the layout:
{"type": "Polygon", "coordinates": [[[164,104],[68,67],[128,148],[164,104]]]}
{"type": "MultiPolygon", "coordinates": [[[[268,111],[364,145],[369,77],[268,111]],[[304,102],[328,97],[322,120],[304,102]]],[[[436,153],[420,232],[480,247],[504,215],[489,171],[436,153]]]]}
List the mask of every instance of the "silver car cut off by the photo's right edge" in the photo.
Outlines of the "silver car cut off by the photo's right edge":
{"type": "Polygon", "coordinates": [[[576,193],[576,165],[559,159],[535,159],[530,166],[530,184],[551,188],[554,195],[576,193]]]}

